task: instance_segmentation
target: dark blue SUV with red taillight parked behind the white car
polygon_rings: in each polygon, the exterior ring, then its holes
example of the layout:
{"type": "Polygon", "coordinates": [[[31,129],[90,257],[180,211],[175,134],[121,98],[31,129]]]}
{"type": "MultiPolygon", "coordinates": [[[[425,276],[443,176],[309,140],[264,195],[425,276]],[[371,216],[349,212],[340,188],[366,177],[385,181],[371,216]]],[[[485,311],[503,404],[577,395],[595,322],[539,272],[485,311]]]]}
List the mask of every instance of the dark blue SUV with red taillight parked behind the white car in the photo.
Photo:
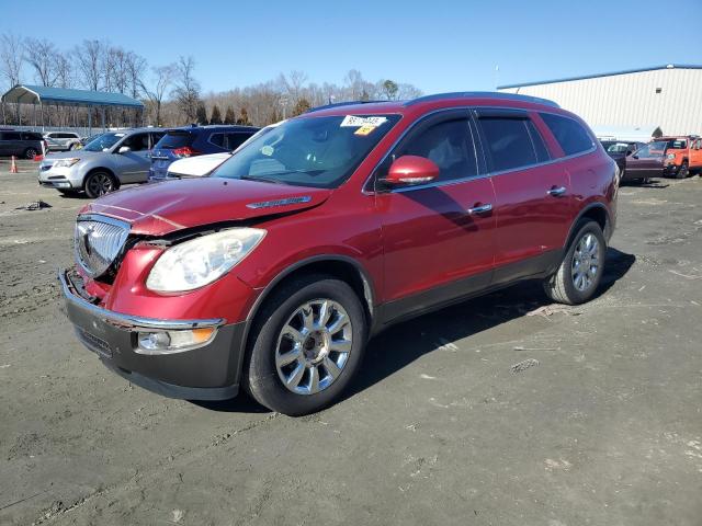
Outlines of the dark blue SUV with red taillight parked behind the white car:
{"type": "Polygon", "coordinates": [[[231,153],[258,132],[252,126],[186,126],[169,129],[151,156],[149,181],[162,181],[168,167],[178,159],[204,153],[231,153]]]}

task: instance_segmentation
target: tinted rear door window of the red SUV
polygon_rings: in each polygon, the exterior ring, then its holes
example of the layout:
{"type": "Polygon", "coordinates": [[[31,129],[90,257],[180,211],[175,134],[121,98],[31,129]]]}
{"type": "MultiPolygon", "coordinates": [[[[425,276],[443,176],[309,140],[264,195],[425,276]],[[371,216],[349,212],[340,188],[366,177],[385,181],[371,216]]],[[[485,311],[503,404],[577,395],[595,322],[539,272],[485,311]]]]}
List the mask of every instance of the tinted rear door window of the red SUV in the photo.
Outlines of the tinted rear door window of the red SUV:
{"type": "Polygon", "coordinates": [[[529,118],[486,116],[478,123],[494,171],[516,170],[548,159],[543,139],[529,118]]]}

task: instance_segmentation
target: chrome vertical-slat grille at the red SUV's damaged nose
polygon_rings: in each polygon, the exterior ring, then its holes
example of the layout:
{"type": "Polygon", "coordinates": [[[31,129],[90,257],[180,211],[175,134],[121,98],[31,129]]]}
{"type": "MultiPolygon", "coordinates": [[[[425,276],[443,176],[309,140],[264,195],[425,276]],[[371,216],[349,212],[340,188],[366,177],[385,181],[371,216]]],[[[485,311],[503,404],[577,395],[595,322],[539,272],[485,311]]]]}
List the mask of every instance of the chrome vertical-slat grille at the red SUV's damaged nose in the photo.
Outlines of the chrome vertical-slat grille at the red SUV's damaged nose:
{"type": "Polygon", "coordinates": [[[99,277],[110,268],[128,235],[126,222],[104,216],[79,216],[73,235],[76,261],[91,277],[99,277]]]}

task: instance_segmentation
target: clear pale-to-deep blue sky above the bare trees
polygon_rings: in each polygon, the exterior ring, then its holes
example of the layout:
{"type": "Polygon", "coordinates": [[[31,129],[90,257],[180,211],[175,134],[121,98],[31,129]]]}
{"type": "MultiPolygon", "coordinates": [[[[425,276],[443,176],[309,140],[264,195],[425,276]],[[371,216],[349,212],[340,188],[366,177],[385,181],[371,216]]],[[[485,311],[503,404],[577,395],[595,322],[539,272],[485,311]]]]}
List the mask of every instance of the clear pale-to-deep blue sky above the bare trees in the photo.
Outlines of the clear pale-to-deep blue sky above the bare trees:
{"type": "Polygon", "coordinates": [[[677,0],[675,12],[660,0],[39,0],[31,15],[23,2],[0,0],[0,33],[9,32],[64,49],[106,38],[151,66],[192,55],[203,92],[291,70],[341,83],[354,68],[439,93],[702,65],[702,0],[677,0]]]}

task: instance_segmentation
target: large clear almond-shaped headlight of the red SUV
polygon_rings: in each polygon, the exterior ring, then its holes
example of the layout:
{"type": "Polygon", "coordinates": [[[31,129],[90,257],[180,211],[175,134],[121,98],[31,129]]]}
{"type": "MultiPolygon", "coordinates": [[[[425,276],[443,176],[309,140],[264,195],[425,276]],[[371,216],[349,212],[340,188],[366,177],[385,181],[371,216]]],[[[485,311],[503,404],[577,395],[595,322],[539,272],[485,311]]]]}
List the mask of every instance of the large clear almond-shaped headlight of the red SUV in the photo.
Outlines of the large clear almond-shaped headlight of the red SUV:
{"type": "Polygon", "coordinates": [[[203,287],[229,272],[264,236],[258,228],[233,228],[171,247],[151,268],[146,286],[158,293],[203,287]]]}

